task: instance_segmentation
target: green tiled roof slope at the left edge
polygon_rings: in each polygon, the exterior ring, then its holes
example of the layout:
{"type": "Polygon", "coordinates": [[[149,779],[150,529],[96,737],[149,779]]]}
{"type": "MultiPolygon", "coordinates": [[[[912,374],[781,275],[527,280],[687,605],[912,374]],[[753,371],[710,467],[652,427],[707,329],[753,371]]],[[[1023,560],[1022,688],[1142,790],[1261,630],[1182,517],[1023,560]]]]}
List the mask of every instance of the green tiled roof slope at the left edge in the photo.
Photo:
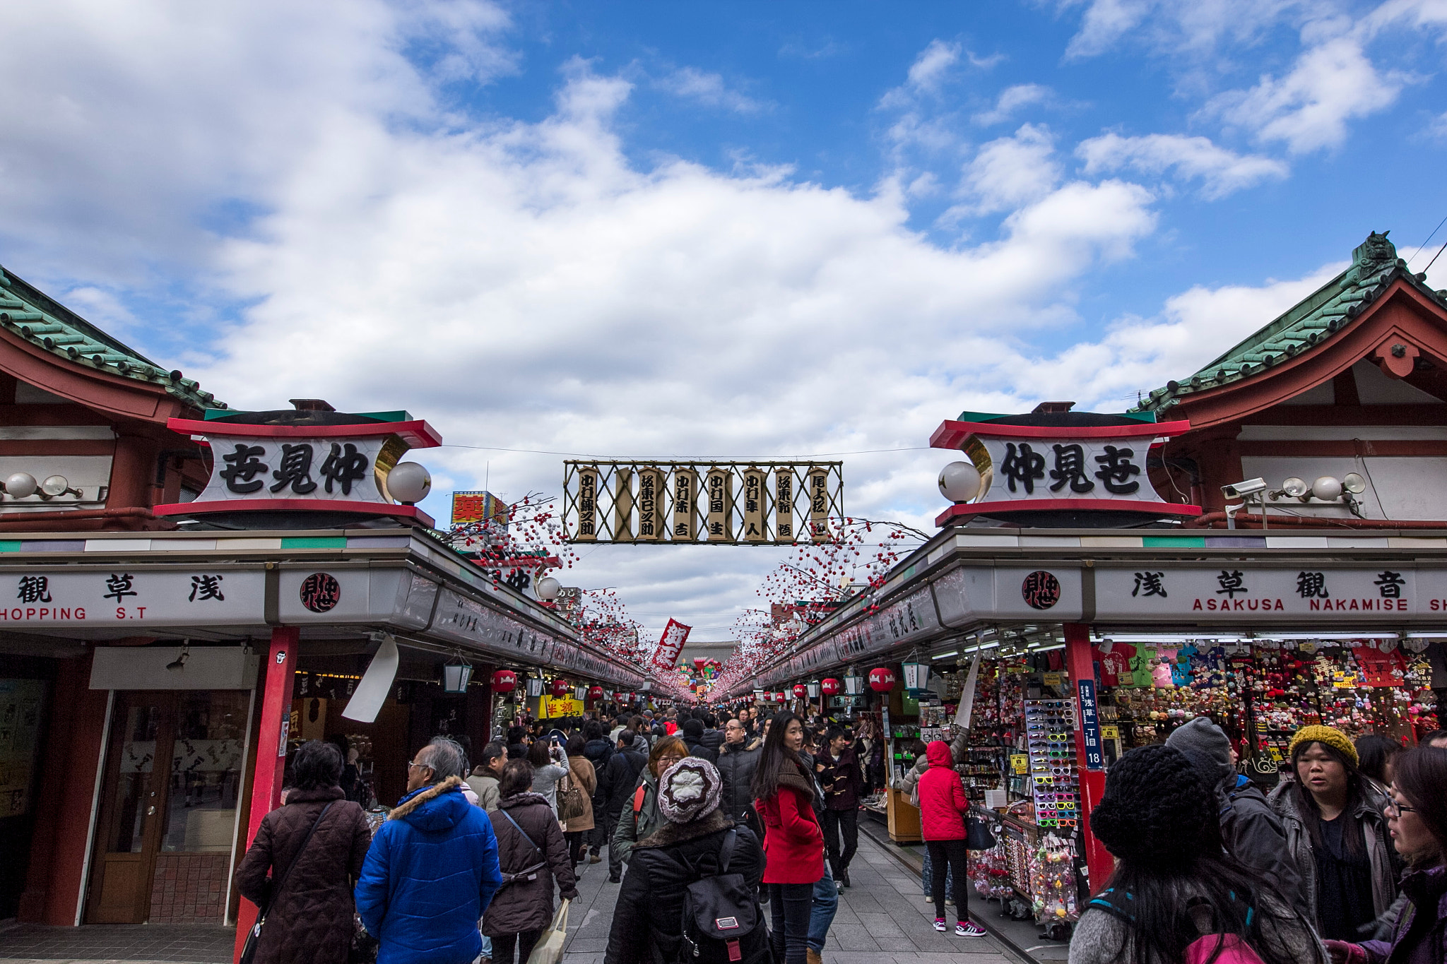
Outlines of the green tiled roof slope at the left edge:
{"type": "Polygon", "coordinates": [[[198,409],[226,408],[210,392],[203,392],[194,379],[162,369],[3,267],[0,267],[0,328],[74,364],[159,384],[169,395],[198,409]]]}

